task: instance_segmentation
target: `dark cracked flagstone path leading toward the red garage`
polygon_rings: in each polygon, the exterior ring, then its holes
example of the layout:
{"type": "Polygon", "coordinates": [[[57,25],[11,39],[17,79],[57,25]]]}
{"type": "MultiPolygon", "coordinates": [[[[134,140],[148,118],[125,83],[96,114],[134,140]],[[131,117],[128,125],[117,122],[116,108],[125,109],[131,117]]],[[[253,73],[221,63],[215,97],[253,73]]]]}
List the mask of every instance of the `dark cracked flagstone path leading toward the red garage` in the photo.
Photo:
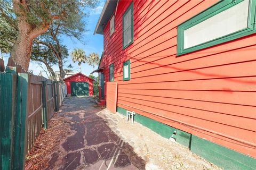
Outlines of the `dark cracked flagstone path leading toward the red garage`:
{"type": "Polygon", "coordinates": [[[59,116],[69,119],[71,135],[53,151],[46,169],[145,169],[145,160],[109,128],[114,122],[99,116],[102,109],[91,97],[65,99],[59,116]]]}

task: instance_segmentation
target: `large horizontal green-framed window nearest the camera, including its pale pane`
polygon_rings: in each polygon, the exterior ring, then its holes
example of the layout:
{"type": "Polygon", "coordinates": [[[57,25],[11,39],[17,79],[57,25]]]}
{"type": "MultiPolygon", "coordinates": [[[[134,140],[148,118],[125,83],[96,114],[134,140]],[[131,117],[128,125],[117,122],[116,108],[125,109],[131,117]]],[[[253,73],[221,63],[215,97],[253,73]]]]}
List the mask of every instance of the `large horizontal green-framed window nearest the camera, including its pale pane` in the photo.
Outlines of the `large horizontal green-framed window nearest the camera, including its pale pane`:
{"type": "Polygon", "coordinates": [[[178,26],[177,55],[249,35],[255,30],[255,0],[221,0],[178,26]]]}

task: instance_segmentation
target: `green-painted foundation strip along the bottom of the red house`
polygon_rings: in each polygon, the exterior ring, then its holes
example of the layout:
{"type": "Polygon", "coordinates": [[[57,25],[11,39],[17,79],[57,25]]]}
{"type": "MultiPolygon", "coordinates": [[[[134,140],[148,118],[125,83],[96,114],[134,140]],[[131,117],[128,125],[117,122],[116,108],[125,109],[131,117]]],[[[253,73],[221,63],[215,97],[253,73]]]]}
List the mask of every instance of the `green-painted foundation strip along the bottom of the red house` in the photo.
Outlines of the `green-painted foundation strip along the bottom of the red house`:
{"type": "MultiPolygon", "coordinates": [[[[126,109],[117,107],[117,112],[126,116],[126,109]]],[[[134,116],[134,121],[146,126],[164,138],[175,138],[175,140],[181,145],[188,147],[195,154],[202,156],[206,160],[209,160],[223,169],[256,169],[256,159],[250,156],[241,154],[209,140],[199,138],[193,134],[175,129],[169,125],[139,114],[134,116]],[[176,134],[174,135],[173,132],[175,130],[176,134]]]]}

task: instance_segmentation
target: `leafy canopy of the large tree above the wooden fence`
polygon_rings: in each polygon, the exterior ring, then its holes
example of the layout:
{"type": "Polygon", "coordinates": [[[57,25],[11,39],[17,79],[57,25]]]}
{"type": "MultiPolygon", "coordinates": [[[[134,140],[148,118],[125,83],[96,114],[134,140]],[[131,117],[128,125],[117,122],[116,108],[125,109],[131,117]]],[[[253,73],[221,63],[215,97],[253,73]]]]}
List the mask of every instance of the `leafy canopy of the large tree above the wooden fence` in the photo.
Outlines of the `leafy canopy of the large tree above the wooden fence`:
{"type": "Polygon", "coordinates": [[[22,23],[26,27],[29,25],[26,28],[29,32],[40,35],[34,40],[32,60],[41,61],[43,58],[51,65],[57,64],[54,55],[59,61],[68,56],[61,38],[68,36],[82,41],[87,31],[85,18],[89,15],[88,9],[97,4],[98,0],[0,0],[0,50],[11,52],[20,31],[25,29],[22,23]],[[46,32],[38,33],[47,27],[46,32]]]}

